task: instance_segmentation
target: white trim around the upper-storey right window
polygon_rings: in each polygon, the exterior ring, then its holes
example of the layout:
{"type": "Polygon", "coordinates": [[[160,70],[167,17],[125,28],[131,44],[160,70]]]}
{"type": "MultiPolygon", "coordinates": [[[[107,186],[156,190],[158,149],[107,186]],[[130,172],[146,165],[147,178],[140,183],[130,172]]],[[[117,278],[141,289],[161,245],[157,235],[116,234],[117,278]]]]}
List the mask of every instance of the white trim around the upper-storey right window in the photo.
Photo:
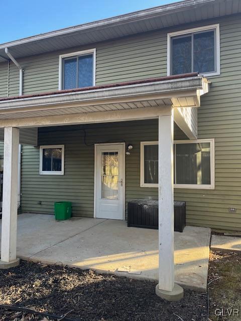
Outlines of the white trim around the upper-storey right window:
{"type": "Polygon", "coordinates": [[[209,72],[209,73],[203,73],[200,74],[202,76],[208,77],[208,76],[217,76],[220,75],[220,30],[219,30],[219,24],[216,25],[209,25],[209,26],[203,26],[198,28],[192,28],[192,29],[186,29],[181,30],[177,32],[172,32],[167,34],[167,76],[171,75],[171,38],[176,36],[181,36],[185,34],[190,34],[194,32],[200,32],[200,31],[206,31],[215,29],[216,32],[216,71],[215,72],[209,72]]]}

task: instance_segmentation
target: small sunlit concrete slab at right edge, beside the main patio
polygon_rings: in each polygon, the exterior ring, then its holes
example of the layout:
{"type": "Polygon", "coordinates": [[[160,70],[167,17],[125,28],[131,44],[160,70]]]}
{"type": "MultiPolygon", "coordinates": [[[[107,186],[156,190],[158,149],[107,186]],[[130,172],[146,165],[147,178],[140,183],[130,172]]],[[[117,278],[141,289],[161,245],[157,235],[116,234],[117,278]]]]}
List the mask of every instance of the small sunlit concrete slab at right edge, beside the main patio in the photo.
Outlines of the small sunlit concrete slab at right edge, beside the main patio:
{"type": "Polygon", "coordinates": [[[241,237],[212,235],[210,248],[216,251],[240,252],[241,237]]]}

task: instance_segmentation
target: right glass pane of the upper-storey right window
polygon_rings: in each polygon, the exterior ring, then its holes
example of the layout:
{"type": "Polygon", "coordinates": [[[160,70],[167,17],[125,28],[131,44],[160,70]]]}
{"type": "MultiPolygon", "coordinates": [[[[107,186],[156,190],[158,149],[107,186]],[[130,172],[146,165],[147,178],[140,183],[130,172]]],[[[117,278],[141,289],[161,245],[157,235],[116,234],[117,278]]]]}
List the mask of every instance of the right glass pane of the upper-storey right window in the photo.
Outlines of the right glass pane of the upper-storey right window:
{"type": "Polygon", "coordinates": [[[215,71],[214,53],[213,30],[193,35],[193,71],[215,71]]]}

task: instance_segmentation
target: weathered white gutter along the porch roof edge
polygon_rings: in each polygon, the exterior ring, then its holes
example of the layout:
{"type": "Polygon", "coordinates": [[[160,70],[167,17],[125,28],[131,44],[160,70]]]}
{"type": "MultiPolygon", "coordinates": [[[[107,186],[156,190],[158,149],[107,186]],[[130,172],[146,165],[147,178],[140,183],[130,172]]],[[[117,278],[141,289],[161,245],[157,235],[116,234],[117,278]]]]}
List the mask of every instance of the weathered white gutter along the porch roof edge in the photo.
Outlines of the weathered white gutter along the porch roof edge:
{"type": "MultiPolygon", "coordinates": [[[[67,103],[83,103],[88,102],[88,105],[95,104],[95,101],[101,100],[110,101],[111,99],[128,96],[139,96],[142,95],[145,99],[146,95],[167,93],[169,97],[176,95],[177,92],[181,91],[196,91],[202,90],[204,83],[206,83],[202,76],[172,79],[165,81],[157,81],[152,83],[140,83],[132,84],[119,87],[109,87],[100,89],[90,89],[86,91],[58,93],[46,96],[35,96],[35,97],[24,97],[10,100],[0,100],[0,112],[2,110],[19,110],[26,107],[37,107],[47,105],[65,105],[67,103]],[[175,92],[175,94],[173,93],[175,92]]],[[[97,104],[97,103],[96,103],[97,104]]]]}

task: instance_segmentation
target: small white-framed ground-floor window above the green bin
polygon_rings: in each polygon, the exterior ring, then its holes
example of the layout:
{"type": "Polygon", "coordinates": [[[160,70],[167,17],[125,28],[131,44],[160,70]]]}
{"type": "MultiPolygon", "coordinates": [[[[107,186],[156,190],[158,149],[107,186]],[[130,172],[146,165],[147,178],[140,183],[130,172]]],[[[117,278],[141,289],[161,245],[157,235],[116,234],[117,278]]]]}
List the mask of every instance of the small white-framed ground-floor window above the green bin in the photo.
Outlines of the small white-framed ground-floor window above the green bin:
{"type": "Polygon", "coordinates": [[[40,174],[64,175],[64,145],[40,146],[40,174]]]}

